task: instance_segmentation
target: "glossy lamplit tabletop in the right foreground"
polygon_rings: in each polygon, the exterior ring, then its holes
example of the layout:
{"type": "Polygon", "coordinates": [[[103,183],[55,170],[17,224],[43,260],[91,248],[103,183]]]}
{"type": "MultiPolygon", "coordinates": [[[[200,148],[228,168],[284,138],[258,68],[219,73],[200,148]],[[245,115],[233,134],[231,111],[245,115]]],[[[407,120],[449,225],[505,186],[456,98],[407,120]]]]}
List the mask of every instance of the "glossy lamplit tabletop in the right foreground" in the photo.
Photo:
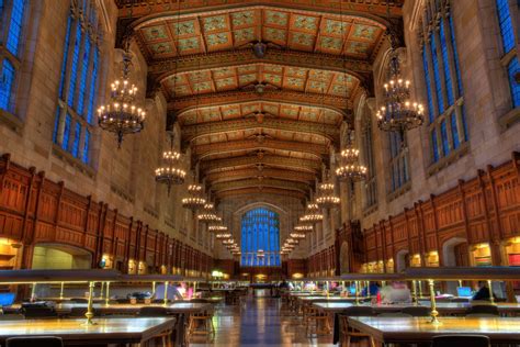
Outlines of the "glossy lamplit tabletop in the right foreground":
{"type": "Polygon", "coordinates": [[[349,325],[384,343],[427,340],[444,334],[481,334],[491,339],[520,340],[520,317],[349,317],[349,325]]]}

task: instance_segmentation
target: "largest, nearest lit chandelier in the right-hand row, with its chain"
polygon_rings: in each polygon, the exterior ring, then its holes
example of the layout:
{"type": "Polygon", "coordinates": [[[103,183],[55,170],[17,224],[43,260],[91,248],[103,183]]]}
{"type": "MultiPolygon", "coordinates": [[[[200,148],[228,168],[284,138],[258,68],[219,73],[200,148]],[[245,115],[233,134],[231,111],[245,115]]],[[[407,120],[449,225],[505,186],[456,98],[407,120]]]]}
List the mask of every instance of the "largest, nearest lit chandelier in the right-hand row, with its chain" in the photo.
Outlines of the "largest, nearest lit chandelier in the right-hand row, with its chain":
{"type": "MultiPolygon", "coordinates": [[[[388,2],[386,15],[389,22],[388,2]]],[[[411,99],[410,81],[403,79],[400,75],[399,57],[395,49],[397,40],[392,27],[388,27],[388,34],[391,40],[389,79],[384,83],[383,105],[376,113],[377,127],[385,132],[397,132],[404,144],[405,132],[422,124],[423,108],[411,99]]]]}

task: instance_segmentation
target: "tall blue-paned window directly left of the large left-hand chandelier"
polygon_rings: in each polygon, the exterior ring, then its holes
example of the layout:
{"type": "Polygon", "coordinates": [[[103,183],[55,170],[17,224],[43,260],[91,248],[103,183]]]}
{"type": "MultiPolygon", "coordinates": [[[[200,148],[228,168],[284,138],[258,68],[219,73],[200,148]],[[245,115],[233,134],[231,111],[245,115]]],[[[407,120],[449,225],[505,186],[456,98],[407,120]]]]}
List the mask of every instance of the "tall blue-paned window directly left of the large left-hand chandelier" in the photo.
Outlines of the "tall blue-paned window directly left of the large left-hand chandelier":
{"type": "Polygon", "coordinates": [[[94,1],[72,2],[67,20],[54,143],[89,164],[99,89],[101,30],[94,1]]]}

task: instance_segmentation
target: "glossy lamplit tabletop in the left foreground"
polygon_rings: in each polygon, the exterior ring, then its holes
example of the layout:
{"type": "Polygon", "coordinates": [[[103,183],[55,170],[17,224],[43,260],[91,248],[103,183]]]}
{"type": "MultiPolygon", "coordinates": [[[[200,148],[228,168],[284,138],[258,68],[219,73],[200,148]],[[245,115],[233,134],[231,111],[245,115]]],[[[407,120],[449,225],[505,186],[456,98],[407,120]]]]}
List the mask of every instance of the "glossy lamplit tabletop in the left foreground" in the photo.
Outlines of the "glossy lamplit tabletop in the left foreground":
{"type": "Polygon", "coordinates": [[[94,325],[87,325],[80,320],[25,320],[0,321],[0,338],[30,335],[53,335],[64,339],[75,338],[122,338],[140,339],[145,335],[159,333],[174,325],[171,317],[135,317],[128,318],[94,318],[94,325]]]}

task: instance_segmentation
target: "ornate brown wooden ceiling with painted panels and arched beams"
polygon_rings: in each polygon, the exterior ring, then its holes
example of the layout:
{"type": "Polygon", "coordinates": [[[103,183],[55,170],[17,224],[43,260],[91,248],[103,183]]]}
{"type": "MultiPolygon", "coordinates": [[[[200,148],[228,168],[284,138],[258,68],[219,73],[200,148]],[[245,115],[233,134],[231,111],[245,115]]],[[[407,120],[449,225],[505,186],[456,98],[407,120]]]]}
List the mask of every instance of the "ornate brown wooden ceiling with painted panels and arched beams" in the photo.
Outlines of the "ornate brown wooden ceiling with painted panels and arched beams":
{"type": "Polygon", "coordinates": [[[384,0],[116,2],[216,199],[308,197],[388,26],[384,0]]]}

